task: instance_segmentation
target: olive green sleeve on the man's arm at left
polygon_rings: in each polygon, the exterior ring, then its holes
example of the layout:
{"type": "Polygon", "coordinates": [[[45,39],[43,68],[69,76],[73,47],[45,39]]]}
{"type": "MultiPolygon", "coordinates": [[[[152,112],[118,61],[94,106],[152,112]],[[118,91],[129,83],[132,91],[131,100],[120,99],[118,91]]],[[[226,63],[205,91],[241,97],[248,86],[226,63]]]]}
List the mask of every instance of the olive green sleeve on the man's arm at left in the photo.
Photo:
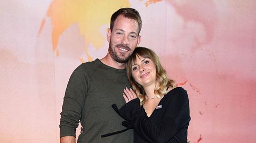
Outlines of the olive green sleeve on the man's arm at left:
{"type": "Polygon", "coordinates": [[[64,136],[76,137],[76,128],[82,117],[82,108],[87,92],[86,77],[83,70],[78,68],[71,74],[68,81],[60,117],[60,138],[64,136]]]}

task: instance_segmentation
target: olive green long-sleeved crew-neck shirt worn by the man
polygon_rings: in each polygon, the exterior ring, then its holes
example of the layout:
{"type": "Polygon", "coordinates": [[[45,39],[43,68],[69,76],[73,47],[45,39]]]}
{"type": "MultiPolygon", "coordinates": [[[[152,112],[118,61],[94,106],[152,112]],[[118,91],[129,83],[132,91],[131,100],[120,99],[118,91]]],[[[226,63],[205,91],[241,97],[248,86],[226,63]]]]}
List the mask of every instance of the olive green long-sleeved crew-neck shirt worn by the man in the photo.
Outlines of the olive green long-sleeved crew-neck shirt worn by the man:
{"type": "Polygon", "coordinates": [[[133,142],[133,130],[101,138],[102,134],[125,129],[111,108],[125,104],[123,90],[130,87],[126,70],[103,64],[99,59],[83,63],[71,74],[65,92],[60,119],[60,137],[75,136],[79,120],[83,133],[78,143],[133,142]]]}

